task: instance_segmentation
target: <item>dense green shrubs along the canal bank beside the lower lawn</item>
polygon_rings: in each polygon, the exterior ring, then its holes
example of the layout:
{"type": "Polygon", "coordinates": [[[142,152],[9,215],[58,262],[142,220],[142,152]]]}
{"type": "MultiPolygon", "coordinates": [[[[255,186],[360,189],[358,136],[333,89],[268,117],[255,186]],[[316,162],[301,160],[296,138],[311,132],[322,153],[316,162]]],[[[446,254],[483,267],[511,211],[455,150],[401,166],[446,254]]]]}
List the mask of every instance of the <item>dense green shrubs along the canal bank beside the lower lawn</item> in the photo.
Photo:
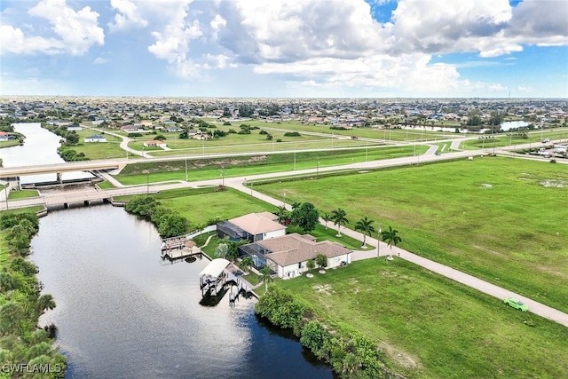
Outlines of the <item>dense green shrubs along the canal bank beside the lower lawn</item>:
{"type": "Polygon", "coordinates": [[[318,320],[308,320],[311,311],[284,289],[269,288],[256,303],[255,312],[275,326],[293,328],[300,343],[327,361],[342,378],[401,377],[384,367],[373,341],[352,332],[332,333],[318,320]]]}

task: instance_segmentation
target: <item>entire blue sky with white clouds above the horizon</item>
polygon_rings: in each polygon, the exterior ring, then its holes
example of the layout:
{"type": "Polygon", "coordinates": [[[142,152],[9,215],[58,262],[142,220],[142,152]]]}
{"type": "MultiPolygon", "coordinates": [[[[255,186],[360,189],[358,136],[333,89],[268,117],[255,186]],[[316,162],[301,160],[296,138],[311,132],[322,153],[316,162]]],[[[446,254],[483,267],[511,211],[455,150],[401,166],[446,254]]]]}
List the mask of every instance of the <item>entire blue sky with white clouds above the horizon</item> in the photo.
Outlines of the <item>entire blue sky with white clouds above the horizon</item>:
{"type": "Polygon", "coordinates": [[[0,94],[568,98],[565,0],[3,0],[0,94]]]}

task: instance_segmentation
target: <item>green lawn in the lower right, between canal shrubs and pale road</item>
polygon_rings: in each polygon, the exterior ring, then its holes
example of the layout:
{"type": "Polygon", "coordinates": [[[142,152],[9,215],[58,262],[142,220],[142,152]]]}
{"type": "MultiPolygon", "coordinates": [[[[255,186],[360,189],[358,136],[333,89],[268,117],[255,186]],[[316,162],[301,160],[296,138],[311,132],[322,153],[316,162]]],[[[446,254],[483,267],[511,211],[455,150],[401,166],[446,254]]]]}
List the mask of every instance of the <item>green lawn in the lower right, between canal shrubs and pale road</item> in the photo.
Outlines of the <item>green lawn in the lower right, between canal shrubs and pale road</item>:
{"type": "Polygon", "coordinates": [[[568,328],[395,259],[278,280],[335,330],[376,341],[408,378],[568,376],[568,328]]]}

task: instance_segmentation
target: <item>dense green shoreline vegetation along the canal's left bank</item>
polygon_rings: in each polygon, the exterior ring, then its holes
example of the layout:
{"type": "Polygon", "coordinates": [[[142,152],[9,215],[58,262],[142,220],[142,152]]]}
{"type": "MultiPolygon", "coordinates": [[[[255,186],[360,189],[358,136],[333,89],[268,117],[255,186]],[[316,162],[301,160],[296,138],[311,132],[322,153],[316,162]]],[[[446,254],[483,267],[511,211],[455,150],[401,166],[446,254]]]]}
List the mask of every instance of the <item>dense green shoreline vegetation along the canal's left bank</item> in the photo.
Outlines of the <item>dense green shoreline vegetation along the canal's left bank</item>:
{"type": "Polygon", "coordinates": [[[63,378],[67,359],[54,346],[57,328],[40,328],[43,312],[55,308],[41,295],[37,267],[26,257],[39,220],[32,212],[0,216],[0,378],[63,378]]]}

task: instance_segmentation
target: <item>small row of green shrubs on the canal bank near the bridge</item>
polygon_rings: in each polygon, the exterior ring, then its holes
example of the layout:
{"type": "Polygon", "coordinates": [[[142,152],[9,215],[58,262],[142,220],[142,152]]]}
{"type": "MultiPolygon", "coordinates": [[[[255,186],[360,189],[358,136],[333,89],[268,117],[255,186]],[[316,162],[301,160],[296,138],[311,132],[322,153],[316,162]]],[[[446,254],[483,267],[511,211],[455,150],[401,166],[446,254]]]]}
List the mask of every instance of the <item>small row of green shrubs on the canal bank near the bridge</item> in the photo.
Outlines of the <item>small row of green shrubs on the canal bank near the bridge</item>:
{"type": "Polygon", "coordinates": [[[170,209],[163,207],[160,201],[150,196],[136,196],[124,206],[124,209],[150,220],[162,238],[182,235],[189,229],[189,222],[185,217],[171,212],[170,209]]]}

